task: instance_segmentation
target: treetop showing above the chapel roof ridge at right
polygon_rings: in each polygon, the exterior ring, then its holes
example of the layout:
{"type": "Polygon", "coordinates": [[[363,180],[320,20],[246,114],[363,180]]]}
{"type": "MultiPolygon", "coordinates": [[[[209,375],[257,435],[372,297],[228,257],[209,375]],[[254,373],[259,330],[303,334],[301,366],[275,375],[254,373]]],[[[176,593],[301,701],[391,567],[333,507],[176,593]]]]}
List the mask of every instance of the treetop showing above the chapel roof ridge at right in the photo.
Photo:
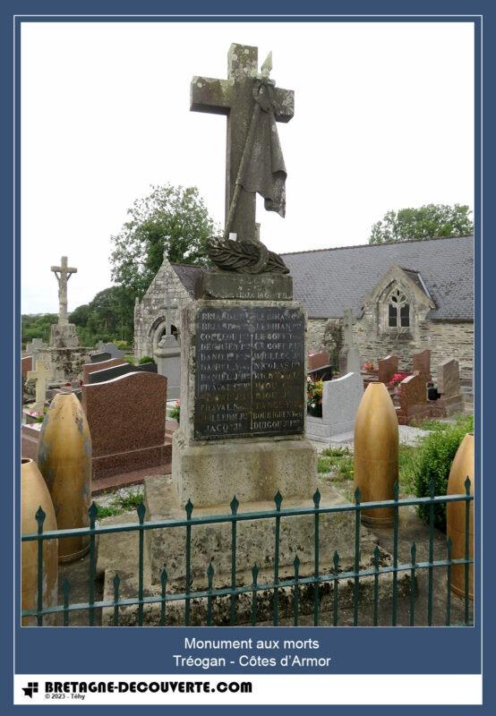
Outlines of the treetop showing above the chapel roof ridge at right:
{"type": "Polygon", "coordinates": [[[468,217],[467,206],[455,204],[425,204],[418,209],[388,211],[372,226],[369,243],[419,241],[438,236],[468,236],[474,224],[468,217]]]}

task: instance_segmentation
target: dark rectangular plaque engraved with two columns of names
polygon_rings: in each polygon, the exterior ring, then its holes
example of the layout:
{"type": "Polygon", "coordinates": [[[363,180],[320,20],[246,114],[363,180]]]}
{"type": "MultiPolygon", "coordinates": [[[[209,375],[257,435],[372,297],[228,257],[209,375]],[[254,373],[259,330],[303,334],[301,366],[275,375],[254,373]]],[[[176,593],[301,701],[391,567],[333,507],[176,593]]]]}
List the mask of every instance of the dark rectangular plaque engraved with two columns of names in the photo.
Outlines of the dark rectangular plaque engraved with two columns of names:
{"type": "Polygon", "coordinates": [[[202,308],[194,437],[304,431],[304,316],[281,307],[202,308]]]}

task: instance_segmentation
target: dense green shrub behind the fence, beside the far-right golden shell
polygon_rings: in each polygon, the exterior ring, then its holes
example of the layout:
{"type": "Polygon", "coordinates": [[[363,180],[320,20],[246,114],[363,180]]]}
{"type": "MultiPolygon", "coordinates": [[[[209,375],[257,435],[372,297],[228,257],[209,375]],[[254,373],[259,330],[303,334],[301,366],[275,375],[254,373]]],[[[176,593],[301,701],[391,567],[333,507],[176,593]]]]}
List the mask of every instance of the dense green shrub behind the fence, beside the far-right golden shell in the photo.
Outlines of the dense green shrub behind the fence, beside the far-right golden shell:
{"type": "MultiPolygon", "coordinates": [[[[466,433],[474,430],[474,417],[463,415],[455,423],[442,424],[445,427],[432,430],[416,448],[408,485],[419,498],[429,497],[432,479],[435,494],[446,494],[451,464],[466,433]]],[[[418,506],[417,514],[424,522],[429,521],[429,507],[418,506]]],[[[434,525],[446,532],[446,505],[434,507],[434,525]]]]}

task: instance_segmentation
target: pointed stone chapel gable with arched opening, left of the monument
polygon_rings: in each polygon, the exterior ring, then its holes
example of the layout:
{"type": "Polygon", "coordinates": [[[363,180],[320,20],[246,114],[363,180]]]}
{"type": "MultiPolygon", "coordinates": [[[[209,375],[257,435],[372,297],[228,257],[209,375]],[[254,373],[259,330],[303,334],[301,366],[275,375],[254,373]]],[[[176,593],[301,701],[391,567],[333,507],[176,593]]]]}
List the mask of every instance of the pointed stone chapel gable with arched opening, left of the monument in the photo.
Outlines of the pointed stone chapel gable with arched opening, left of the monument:
{"type": "Polygon", "coordinates": [[[134,358],[139,361],[144,355],[154,357],[155,348],[166,327],[166,301],[177,303],[171,309],[172,325],[179,329],[180,310],[192,302],[192,297],[177,277],[167,259],[158,269],[146,294],[134,306],[134,358]]]}

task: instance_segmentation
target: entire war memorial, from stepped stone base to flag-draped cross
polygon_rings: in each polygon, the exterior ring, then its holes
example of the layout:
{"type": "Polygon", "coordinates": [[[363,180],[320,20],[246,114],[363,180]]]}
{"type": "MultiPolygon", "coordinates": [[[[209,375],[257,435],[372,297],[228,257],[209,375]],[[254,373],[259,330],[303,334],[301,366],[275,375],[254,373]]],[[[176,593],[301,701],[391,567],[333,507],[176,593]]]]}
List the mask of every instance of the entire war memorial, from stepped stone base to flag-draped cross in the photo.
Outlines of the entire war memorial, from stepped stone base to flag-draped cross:
{"type": "MultiPolygon", "coordinates": [[[[226,230],[209,243],[217,268],[201,274],[196,300],[181,311],[181,421],[172,482],[145,480],[151,521],[184,517],[191,503],[193,518],[230,514],[233,504],[239,513],[271,510],[278,493],[283,508],[313,505],[316,453],[305,437],[307,319],[293,300],[284,262],[260,242],[255,226],[255,192],[266,209],[284,214],[286,169],[276,122],[290,120],[294,106],[293,92],[276,88],[269,70],[270,56],[258,73],[257,48],[233,45],[227,81],[192,80],[192,110],[227,115],[226,230]]],[[[322,506],[342,501],[333,488],[320,490],[322,506]]],[[[335,550],[344,562],[352,556],[354,518],[321,519],[321,564],[330,569],[335,550]]],[[[300,574],[313,574],[313,516],[295,516],[284,529],[279,574],[293,574],[296,556],[300,574]]],[[[145,535],[152,583],[167,567],[169,584],[181,589],[183,535],[145,535]]],[[[227,584],[229,525],[198,527],[194,535],[192,584],[205,585],[205,559],[215,568],[214,584],[227,584]]],[[[238,525],[239,584],[251,580],[245,570],[254,561],[261,573],[273,573],[271,520],[238,525]]]]}

